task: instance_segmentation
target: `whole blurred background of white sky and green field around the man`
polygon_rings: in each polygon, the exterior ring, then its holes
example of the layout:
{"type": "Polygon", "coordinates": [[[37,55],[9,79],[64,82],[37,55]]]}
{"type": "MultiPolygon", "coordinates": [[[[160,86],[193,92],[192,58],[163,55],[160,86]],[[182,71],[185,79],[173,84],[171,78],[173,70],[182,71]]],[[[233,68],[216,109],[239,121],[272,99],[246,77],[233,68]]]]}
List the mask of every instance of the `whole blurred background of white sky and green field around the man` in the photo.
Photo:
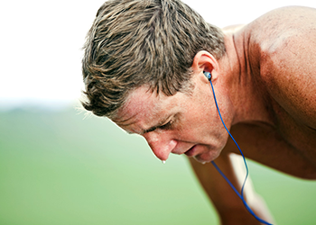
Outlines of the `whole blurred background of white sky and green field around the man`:
{"type": "MultiPolygon", "coordinates": [[[[185,0],[218,27],[310,0],[185,0]]],[[[0,3],[0,225],[218,224],[185,157],[79,109],[85,35],[102,0],[0,3]]],[[[278,224],[316,224],[316,182],[248,161],[278,224]]]]}

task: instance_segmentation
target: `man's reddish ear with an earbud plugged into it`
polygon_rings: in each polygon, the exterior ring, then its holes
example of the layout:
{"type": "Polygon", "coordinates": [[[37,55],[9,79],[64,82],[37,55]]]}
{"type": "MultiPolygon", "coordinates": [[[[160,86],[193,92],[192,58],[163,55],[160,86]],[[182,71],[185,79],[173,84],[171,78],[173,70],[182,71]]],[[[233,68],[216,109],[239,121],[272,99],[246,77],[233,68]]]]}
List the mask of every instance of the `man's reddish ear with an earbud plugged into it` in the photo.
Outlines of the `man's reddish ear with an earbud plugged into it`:
{"type": "Polygon", "coordinates": [[[193,74],[204,76],[203,72],[209,72],[212,75],[212,80],[218,77],[218,60],[206,50],[200,50],[194,56],[191,68],[193,74]]]}

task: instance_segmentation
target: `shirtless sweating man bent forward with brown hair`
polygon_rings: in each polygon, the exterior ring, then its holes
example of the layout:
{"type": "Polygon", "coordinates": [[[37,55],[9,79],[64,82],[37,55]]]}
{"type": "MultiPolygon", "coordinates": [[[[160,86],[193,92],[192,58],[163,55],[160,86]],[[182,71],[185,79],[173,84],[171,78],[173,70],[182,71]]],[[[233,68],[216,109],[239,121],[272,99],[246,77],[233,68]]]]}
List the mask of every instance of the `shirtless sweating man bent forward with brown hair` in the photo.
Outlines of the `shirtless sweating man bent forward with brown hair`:
{"type": "MultiPolygon", "coordinates": [[[[316,10],[286,7],[223,31],[179,0],[108,1],[85,46],[88,111],[147,140],[156,157],[185,154],[222,224],[260,224],[238,191],[240,154],[316,179],[316,10]],[[206,163],[206,164],[205,164],[206,163]]],[[[245,189],[246,202],[273,222],[245,189]]]]}

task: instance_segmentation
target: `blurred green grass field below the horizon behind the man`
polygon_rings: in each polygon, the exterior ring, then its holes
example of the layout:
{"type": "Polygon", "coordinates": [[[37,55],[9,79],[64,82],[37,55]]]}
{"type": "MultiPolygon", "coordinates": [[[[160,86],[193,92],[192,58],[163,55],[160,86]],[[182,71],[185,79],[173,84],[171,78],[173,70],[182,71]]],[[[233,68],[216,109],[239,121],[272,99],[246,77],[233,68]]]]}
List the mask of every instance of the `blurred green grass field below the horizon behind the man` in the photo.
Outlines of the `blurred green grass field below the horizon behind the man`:
{"type": "MultiPolygon", "coordinates": [[[[185,157],[73,109],[0,112],[0,224],[218,224],[185,157]]],[[[316,182],[248,162],[278,224],[316,224],[316,182]]]]}

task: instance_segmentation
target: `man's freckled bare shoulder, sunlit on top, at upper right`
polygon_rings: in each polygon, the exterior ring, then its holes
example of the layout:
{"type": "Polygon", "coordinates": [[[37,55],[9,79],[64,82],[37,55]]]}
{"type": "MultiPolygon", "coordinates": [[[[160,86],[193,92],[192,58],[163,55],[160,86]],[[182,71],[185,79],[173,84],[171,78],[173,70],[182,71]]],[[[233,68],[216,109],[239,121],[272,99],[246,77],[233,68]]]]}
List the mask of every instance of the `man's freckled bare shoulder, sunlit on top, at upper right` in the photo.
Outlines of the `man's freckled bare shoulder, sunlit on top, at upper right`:
{"type": "Polygon", "coordinates": [[[293,119],[316,129],[316,9],[277,9],[248,27],[267,91],[293,119]]]}

